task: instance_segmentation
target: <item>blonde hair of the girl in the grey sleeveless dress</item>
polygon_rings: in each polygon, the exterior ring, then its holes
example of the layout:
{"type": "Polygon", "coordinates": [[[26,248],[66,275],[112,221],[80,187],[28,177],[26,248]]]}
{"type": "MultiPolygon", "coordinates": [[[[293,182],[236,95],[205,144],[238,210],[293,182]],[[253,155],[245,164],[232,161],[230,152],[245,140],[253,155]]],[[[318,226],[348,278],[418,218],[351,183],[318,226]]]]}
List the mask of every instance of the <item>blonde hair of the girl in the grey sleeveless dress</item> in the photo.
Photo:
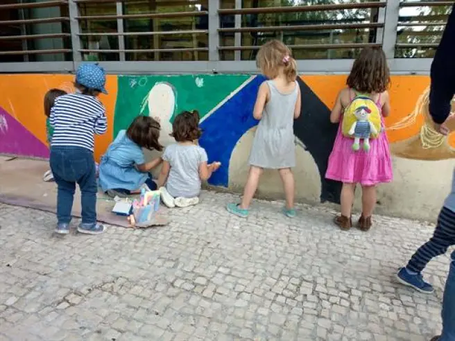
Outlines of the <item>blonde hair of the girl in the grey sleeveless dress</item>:
{"type": "Polygon", "coordinates": [[[278,76],[280,68],[288,82],[297,78],[297,63],[292,58],[291,49],[280,40],[270,40],[261,46],[256,57],[257,67],[270,79],[278,76]]]}

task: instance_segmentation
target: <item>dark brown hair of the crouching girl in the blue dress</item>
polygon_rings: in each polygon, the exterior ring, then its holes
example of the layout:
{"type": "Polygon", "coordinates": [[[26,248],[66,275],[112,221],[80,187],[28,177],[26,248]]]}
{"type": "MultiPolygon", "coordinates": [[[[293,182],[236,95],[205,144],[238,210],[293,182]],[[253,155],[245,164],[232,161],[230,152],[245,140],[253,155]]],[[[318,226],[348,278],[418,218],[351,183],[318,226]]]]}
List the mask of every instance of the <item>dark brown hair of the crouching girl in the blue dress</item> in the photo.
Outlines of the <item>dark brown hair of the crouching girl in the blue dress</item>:
{"type": "Polygon", "coordinates": [[[160,130],[161,125],[155,119],[149,116],[137,116],[126,130],[126,136],[142,148],[161,152],[163,146],[158,142],[160,130]]]}

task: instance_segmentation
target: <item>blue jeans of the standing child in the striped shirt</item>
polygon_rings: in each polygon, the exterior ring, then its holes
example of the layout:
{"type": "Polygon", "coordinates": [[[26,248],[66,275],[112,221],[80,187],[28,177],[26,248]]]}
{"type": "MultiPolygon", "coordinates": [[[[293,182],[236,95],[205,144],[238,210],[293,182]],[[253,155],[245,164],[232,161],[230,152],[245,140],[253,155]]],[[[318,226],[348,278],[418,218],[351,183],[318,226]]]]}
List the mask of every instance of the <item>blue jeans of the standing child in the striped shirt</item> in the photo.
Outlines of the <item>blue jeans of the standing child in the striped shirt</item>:
{"type": "Polygon", "coordinates": [[[59,224],[71,221],[74,191],[79,185],[83,224],[96,222],[96,167],[93,152],[80,147],[51,147],[53,177],[58,186],[57,219],[59,224]]]}

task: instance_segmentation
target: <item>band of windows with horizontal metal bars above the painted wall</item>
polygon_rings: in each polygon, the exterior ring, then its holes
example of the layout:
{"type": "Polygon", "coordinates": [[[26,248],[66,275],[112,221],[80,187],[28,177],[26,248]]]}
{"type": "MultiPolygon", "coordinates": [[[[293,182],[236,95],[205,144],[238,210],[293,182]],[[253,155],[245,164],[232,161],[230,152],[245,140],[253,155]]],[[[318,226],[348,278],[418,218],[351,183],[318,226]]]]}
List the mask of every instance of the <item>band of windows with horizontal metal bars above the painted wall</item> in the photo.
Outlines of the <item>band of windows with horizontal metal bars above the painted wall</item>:
{"type": "Polygon", "coordinates": [[[1,4],[0,46],[8,44],[8,48],[0,49],[0,72],[71,72],[83,60],[99,60],[112,73],[253,73],[255,53],[261,44],[278,38],[291,47],[302,72],[345,73],[361,49],[381,46],[393,72],[427,73],[448,11],[441,14],[422,8],[453,4],[367,0],[241,8],[243,1],[234,0],[234,8],[221,8],[223,0],[161,0],[148,1],[149,7],[140,12],[128,11],[127,6],[143,2],[55,0],[1,4]],[[108,14],[96,12],[96,6],[110,10],[108,14]],[[158,11],[156,6],[166,10],[158,11]],[[26,15],[44,8],[60,8],[60,15],[26,15]],[[417,10],[406,12],[409,8],[417,10]],[[17,11],[19,17],[3,19],[2,12],[8,10],[17,11]],[[346,11],[357,14],[345,16],[346,11]],[[314,19],[315,13],[325,13],[326,19],[324,15],[314,19]],[[332,13],[330,19],[327,13],[332,13]],[[57,24],[58,32],[31,29],[46,24],[57,24]],[[13,26],[12,33],[2,31],[13,26]],[[37,43],[40,41],[51,43],[46,47],[37,43]],[[49,60],[45,55],[59,57],[49,60]]]}

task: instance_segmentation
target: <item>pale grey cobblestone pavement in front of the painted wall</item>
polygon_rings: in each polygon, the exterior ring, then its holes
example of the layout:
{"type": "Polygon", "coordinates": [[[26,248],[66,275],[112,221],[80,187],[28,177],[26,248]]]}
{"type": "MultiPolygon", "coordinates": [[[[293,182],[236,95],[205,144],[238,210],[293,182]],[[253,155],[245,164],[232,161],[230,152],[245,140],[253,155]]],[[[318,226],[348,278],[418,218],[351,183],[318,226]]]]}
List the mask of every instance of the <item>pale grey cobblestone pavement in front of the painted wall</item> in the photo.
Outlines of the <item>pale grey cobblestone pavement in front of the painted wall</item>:
{"type": "Polygon", "coordinates": [[[447,256],[425,274],[436,294],[395,282],[433,226],[379,217],[368,233],[328,209],[237,197],[168,211],[168,227],[53,236],[55,216],[0,204],[0,340],[429,340],[440,331],[447,256]]]}

